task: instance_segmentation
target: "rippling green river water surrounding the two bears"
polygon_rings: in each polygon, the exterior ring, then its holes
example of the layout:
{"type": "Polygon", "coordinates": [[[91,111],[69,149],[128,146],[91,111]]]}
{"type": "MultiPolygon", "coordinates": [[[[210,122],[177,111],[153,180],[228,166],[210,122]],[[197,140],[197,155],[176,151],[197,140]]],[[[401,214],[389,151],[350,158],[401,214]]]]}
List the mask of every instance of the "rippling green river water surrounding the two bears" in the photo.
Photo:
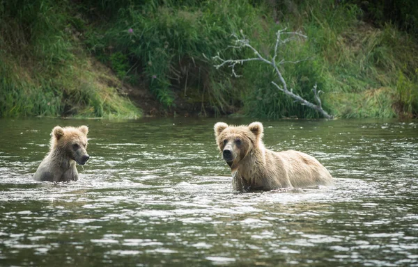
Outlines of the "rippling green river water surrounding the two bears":
{"type": "MultiPolygon", "coordinates": [[[[418,266],[418,121],[262,121],[336,188],[236,193],[215,119],[0,120],[0,266],[418,266]],[[56,125],[79,181],[36,182],[56,125]]],[[[223,119],[248,124],[249,119],[223,119]]]]}

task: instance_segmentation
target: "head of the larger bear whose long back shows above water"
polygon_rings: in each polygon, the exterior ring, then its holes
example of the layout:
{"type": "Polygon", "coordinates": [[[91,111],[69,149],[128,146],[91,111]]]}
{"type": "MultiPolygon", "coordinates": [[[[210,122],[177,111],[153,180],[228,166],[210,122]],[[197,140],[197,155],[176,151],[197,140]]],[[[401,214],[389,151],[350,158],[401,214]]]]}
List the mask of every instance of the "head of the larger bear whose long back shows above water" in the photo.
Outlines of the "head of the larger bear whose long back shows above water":
{"type": "Polygon", "coordinates": [[[219,151],[231,170],[238,168],[248,154],[263,145],[261,122],[252,122],[248,126],[229,126],[224,122],[217,122],[213,128],[219,151]]]}

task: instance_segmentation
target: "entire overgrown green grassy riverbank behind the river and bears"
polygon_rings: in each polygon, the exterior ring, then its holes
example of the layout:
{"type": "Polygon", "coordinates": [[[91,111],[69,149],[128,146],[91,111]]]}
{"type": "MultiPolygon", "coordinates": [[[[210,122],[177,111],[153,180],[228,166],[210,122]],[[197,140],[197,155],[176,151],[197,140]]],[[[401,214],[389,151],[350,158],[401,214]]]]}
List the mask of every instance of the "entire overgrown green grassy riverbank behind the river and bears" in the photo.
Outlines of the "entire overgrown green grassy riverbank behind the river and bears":
{"type": "Polygon", "coordinates": [[[315,102],[317,84],[325,110],[340,118],[417,115],[418,24],[370,10],[334,0],[3,1],[0,115],[134,118],[139,111],[118,90],[129,84],[169,113],[318,118],[272,86],[267,65],[240,65],[240,78],[213,67],[217,54],[253,56],[229,47],[231,33],[242,30],[269,58],[284,28],[308,36],[279,49],[279,60],[308,58],[282,65],[294,92],[315,102]]]}

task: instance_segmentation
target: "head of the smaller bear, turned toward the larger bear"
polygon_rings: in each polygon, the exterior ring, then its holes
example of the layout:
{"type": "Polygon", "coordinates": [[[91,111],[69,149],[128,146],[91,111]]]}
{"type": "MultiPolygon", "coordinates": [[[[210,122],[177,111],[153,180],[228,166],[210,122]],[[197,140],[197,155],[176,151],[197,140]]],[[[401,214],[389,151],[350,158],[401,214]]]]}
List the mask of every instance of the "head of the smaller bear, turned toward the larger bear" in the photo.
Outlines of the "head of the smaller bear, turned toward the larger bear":
{"type": "Polygon", "coordinates": [[[87,154],[88,127],[59,127],[56,126],[51,133],[52,151],[68,156],[79,165],[84,165],[90,159],[87,154]]]}

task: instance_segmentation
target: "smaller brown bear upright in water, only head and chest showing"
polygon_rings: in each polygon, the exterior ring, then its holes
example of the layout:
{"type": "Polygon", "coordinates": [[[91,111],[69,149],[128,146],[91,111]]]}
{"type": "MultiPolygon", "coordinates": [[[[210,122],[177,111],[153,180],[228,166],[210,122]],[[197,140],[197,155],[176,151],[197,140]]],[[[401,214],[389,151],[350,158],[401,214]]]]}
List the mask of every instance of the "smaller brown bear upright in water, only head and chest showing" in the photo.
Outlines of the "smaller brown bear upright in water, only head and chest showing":
{"type": "Polygon", "coordinates": [[[84,165],[87,154],[88,127],[59,127],[52,129],[50,151],[40,163],[33,179],[36,181],[77,181],[75,163],[84,165]]]}

